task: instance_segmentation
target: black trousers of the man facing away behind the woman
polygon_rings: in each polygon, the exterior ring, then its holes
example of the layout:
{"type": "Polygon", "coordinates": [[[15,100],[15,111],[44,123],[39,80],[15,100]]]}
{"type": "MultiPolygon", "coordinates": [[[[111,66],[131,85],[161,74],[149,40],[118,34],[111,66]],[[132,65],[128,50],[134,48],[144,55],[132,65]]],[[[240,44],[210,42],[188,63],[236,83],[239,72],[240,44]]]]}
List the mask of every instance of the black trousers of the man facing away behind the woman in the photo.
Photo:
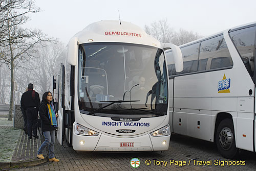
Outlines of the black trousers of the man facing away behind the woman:
{"type": "Polygon", "coordinates": [[[32,137],[32,135],[37,134],[37,109],[36,107],[28,107],[27,108],[27,128],[28,128],[28,136],[32,137]]]}

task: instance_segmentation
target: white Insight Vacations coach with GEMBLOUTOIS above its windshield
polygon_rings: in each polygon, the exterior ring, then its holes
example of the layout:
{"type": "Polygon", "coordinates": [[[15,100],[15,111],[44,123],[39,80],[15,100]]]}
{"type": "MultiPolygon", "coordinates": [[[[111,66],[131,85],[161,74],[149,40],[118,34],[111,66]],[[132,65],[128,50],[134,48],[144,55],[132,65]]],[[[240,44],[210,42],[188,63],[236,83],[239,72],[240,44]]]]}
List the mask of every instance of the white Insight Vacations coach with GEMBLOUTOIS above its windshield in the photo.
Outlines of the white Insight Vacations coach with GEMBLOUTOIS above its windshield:
{"type": "Polygon", "coordinates": [[[67,62],[55,76],[57,139],[76,151],[168,149],[168,70],[161,44],[129,22],[99,21],[68,44],[67,62]]]}

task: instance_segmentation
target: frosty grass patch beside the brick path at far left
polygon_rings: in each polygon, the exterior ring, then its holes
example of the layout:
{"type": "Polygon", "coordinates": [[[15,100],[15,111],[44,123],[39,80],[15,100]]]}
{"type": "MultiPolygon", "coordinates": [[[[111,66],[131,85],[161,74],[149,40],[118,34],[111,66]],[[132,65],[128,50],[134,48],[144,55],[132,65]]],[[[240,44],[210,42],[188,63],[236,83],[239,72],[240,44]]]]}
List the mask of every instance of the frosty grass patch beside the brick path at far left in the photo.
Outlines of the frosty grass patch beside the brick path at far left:
{"type": "Polygon", "coordinates": [[[20,130],[18,129],[0,129],[0,162],[11,161],[19,134],[20,130]]]}

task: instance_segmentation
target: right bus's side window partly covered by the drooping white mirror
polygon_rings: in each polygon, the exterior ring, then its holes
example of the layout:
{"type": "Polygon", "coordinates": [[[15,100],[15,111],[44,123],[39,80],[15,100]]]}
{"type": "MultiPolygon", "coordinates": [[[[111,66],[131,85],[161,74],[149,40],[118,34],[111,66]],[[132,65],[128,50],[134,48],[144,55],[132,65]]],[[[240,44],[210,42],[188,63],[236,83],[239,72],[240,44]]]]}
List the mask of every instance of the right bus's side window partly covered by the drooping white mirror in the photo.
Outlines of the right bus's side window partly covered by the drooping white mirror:
{"type": "Polygon", "coordinates": [[[177,72],[177,74],[197,71],[199,44],[191,44],[180,49],[183,57],[183,71],[177,72]]]}

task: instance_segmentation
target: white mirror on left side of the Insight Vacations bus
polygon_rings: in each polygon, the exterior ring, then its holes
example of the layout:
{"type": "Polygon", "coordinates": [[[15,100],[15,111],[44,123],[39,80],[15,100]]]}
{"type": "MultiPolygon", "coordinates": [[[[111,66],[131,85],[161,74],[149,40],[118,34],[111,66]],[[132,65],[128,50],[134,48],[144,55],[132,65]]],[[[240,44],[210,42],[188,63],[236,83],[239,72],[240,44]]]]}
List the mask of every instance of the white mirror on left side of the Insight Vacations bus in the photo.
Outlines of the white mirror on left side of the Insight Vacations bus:
{"type": "Polygon", "coordinates": [[[68,63],[72,66],[77,65],[78,60],[78,38],[73,37],[68,45],[68,63]]]}

